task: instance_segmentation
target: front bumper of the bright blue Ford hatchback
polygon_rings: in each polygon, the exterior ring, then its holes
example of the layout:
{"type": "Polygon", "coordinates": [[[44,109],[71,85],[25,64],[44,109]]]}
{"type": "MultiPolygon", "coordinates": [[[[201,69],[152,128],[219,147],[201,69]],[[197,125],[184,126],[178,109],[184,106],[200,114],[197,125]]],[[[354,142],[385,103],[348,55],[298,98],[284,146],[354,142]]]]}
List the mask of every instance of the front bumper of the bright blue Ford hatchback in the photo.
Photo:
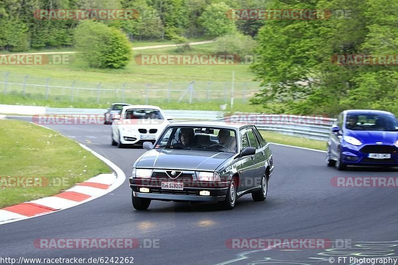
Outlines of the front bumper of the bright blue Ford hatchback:
{"type": "Polygon", "coordinates": [[[363,150],[367,146],[374,145],[361,145],[354,146],[351,144],[345,144],[342,146],[342,160],[344,164],[352,165],[352,166],[398,166],[398,149],[394,150],[392,145],[380,145],[380,151],[377,149],[372,152],[363,153],[363,150]],[[386,152],[383,149],[391,148],[392,151],[386,152]],[[390,159],[374,159],[369,158],[369,153],[377,153],[377,154],[391,154],[390,159]]]}

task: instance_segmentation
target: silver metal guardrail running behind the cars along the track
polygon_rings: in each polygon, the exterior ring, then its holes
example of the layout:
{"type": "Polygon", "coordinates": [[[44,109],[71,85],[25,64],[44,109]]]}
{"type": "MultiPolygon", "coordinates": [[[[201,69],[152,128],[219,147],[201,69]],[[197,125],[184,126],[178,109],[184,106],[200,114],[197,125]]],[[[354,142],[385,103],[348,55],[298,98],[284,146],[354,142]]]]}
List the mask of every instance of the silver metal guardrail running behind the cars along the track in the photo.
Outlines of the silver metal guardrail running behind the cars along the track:
{"type": "MultiPolygon", "coordinates": [[[[103,114],[106,109],[89,108],[46,108],[46,114],[103,114]]],[[[274,131],[287,135],[300,136],[308,139],[325,141],[335,121],[320,116],[297,116],[279,114],[233,114],[222,111],[204,110],[163,110],[178,120],[218,120],[230,123],[253,123],[260,130],[274,131]]]]}

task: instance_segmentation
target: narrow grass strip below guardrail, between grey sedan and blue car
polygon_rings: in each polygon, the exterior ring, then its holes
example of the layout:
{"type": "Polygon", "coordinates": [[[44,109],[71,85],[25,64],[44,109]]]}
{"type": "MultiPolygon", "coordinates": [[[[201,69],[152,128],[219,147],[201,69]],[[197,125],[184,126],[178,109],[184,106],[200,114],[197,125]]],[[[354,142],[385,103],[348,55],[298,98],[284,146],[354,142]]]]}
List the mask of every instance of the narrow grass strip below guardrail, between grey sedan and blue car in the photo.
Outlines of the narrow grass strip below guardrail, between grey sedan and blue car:
{"type": "Polygon", "coordinates": [[[325,141],[312,140],[303,137],[286,135],[286,134],[264,131],[264,130],[261,130],[260,133],[264,137],[264,139],[267,140],[267,142],[326,151],[325,141]]]}

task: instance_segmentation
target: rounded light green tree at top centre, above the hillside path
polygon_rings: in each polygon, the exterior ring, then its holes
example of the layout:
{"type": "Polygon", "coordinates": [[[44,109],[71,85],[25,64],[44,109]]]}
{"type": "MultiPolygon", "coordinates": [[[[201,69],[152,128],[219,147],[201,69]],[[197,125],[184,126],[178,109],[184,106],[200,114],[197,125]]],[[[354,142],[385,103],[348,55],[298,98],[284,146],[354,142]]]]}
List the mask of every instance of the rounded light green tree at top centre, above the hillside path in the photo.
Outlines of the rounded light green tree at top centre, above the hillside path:
{"type": "Polygon", "coordinates": [[[210,4],[200,16],[201,25],[209,36],[223,36],[236,31],[235,21],[228,18],[231,8],[224,2],[210,4]]]}

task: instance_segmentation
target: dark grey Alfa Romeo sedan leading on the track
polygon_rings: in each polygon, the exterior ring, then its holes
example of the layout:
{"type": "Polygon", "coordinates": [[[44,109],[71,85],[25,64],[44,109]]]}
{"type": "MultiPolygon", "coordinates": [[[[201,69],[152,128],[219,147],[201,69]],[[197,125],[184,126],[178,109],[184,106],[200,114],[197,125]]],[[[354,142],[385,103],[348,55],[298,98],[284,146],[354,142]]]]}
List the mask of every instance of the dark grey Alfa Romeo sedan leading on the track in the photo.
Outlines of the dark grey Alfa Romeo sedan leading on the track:
{"type": "Polygon", "coordinates": [[[132,203],[151,200],[218,201],[232,209],[238,197],[267,197],[274,165],[270,144],[252,124],[187,121],[169,124],[133,165],[132,203]]]}

